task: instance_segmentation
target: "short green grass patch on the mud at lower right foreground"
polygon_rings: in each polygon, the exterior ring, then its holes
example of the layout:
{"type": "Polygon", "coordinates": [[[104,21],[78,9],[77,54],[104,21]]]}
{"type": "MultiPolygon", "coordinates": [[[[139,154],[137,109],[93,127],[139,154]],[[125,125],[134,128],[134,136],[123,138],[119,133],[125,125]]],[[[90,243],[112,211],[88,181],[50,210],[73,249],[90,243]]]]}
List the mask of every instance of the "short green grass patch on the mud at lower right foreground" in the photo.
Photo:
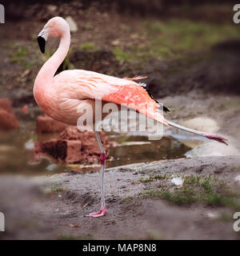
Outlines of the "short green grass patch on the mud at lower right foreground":
{"type": "Polygon", "coordinates": [[[178,206],[189,206],[194,202],[202,202],[206,206],[228,206],[240,209],[236,196],[222,180],[211,176],[190,175],[180,188],[170,189],[162,186],[160,190],[146,190],[143,198],[162,198],[178,206]]]}

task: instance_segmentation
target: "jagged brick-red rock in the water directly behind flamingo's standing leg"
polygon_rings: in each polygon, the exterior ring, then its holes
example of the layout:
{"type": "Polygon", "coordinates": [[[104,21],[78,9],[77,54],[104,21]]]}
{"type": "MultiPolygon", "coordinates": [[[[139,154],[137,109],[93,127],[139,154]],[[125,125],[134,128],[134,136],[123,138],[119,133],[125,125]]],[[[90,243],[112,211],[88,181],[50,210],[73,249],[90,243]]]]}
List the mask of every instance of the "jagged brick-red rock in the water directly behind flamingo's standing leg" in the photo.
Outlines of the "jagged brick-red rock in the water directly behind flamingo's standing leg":
{"type": "MultiPolygon", "coordinates": [[[[99,134],[106,150],[110,142],[106,134],[99,134]]],[[[98,162],[101,152],[94,132],[80,132],[77,127],[68,126],[58,138],[35,142],[34,154],[37,158],[49,156],[58,162],[90,164],[98,162]]]]}

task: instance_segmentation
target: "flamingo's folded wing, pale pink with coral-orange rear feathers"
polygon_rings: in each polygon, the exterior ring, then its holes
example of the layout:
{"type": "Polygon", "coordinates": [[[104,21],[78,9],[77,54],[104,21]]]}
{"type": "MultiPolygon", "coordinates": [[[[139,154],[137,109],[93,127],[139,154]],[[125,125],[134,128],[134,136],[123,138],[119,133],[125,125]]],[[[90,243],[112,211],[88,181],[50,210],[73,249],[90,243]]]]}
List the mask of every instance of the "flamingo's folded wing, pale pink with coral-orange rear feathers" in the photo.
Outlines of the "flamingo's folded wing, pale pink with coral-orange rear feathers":
{"type": "Polygon", "coordinates": [[[113,102],[137,110],[168,126],[162,111],[158,110],[158,102],[150,97],[144,86],[133,81],[141,78],[115,78],[87,70],[66,70],[54,77],[54,84],[58,88],[61,84],[62,95],[66,94],[66,97],[113,102]]]}

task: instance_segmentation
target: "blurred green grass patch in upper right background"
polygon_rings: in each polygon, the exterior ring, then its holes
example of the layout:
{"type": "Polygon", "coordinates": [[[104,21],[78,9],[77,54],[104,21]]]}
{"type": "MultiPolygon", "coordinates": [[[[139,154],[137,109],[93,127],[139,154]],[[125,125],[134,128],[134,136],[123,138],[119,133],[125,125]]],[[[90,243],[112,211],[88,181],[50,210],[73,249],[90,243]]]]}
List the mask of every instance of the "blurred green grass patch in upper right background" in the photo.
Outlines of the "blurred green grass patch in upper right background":
{"type": "Polygon", "coordinates": [[[167,21],[145,20],[142,25],[147,34],[146,45],[135,45],[125,50],[114,49],[114,54],[119,61],[144,62],[149,58],[179,59],[186,58],[186,54],[194,58],[191,54],[193,52],[206,52],[218,42],[240,38],[238,26],[232,24],[218,25],[170,19],[167,21]]]}

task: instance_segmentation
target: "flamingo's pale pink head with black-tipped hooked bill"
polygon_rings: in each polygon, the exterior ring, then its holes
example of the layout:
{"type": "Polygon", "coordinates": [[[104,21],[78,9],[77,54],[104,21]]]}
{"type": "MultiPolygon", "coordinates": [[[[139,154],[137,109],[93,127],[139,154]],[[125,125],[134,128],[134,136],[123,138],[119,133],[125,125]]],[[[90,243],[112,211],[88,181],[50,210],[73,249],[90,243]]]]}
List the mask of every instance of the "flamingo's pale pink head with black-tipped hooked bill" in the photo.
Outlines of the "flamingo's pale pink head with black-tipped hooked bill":
{"type": "Polygon", "coordinates": [[[62,38],[66,32],[69,32],[69,26],[64,18],[54,17],[50,18],[41,32],[38,34],[38,45],[42,52],[45,53],[45,45],[47,38],[62,38]]]}

